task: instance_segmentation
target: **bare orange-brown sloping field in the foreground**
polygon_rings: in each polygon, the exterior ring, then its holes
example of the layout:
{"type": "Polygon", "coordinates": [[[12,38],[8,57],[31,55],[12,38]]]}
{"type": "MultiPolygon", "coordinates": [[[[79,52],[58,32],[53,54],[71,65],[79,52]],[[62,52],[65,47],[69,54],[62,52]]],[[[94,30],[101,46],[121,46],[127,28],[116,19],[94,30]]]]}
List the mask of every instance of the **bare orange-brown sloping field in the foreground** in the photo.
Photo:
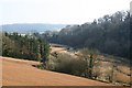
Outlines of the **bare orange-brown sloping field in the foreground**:
{"type": "Polygon", "coordinates": [[[3,86],[110,86],[81,77],[41,70],[32,66],[38,64],[37,62],[1,58],[3,86]]]}

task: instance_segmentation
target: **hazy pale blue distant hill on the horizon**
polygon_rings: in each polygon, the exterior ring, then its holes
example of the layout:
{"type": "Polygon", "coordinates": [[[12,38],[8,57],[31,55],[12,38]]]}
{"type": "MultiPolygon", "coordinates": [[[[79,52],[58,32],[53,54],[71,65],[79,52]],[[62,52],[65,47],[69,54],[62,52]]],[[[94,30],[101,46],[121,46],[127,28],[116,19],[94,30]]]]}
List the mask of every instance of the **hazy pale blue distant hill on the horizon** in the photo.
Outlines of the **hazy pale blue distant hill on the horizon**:
{"type": "Polygon", "coordinates": [[[57,31],[65,26],[66,24],[43,24],[43,23],[23,23],[23,24],[18,23],[0,25],[0,28],[2,28],[2,31],[19,33],[57,31]]]}

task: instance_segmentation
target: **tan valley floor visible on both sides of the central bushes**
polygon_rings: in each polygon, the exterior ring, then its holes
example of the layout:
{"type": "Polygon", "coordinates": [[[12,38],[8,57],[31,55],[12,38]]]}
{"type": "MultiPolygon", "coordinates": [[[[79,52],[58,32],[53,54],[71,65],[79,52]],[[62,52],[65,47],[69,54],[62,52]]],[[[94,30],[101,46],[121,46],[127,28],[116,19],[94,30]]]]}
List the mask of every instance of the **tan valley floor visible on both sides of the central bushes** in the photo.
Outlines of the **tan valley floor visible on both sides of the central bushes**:
{"type": "MultiPolygon", "coordinates": [[[[52,54],[66,53],[78,57],[77,53],[68,52],[64,47],[51,47],[52,54]]],[[[120,57],[98,55],[94,64],[92,76],[96,80],[112,82],[117,85],[130,85],[130,64],[120,57]]]]}

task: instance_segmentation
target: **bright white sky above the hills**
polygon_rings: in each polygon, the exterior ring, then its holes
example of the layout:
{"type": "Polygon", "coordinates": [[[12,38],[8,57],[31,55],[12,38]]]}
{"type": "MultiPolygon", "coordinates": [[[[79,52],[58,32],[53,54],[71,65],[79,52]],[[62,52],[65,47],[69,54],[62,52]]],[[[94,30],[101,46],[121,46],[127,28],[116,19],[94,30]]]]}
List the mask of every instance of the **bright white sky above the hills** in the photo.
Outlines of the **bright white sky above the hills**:
{"type": "Polygon", "coordinates": [[[0,24],[82,24],[130,10],[131,0],[0,0],[0,24]]]}

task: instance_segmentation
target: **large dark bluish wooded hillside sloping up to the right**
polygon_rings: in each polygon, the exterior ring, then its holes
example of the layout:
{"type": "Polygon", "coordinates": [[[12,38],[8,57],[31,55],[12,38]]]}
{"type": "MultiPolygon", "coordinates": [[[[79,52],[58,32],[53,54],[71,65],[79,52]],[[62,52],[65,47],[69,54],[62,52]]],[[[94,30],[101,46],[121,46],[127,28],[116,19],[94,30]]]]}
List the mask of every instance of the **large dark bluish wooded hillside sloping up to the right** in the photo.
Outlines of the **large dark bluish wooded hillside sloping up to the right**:
{"type": "Polygon", "coordinates": [[[61,32],[43,34],[47,41],[75,48],[96,48],[105,54],[130,58],[130,12],[118,11],[91,23],[67,25],[61,32]]]}

